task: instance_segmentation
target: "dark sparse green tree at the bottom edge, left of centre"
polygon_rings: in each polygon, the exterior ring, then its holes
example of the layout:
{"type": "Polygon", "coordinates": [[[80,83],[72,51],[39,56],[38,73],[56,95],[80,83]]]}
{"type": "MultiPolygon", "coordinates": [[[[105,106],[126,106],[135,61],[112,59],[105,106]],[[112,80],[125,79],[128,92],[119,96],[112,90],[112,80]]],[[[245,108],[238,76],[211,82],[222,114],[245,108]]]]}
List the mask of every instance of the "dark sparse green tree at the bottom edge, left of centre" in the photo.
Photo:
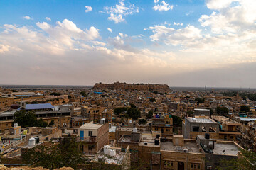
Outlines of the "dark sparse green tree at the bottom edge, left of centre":
{"type": "MultiPolygon", "coordinates": [[[[64,140],[65,141],[65,140],[64,140]]],[[[47,169],[58,169],[60,167],[72,167],[77,169],[77,165],[83,163],[79,151],[79,143],[75,140],[60,142],[59,145],[44,146],[39,145],[28,149],[22,156],[25,164],[31,166],[43,166],[47,169]]]]}

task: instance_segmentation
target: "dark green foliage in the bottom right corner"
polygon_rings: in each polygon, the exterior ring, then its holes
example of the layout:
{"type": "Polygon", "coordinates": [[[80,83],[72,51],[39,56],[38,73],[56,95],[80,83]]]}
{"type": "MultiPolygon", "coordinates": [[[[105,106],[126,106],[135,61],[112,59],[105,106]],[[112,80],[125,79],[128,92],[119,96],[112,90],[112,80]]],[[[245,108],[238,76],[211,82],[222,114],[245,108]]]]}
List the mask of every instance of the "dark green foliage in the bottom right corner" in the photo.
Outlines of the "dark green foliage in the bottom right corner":
{"type": "Polygon", "coordinates": [[[252,150],[240,150],[238,159],[220,159],[218,170],[252,170],[256,169],[256,153],[252,150]]]}

